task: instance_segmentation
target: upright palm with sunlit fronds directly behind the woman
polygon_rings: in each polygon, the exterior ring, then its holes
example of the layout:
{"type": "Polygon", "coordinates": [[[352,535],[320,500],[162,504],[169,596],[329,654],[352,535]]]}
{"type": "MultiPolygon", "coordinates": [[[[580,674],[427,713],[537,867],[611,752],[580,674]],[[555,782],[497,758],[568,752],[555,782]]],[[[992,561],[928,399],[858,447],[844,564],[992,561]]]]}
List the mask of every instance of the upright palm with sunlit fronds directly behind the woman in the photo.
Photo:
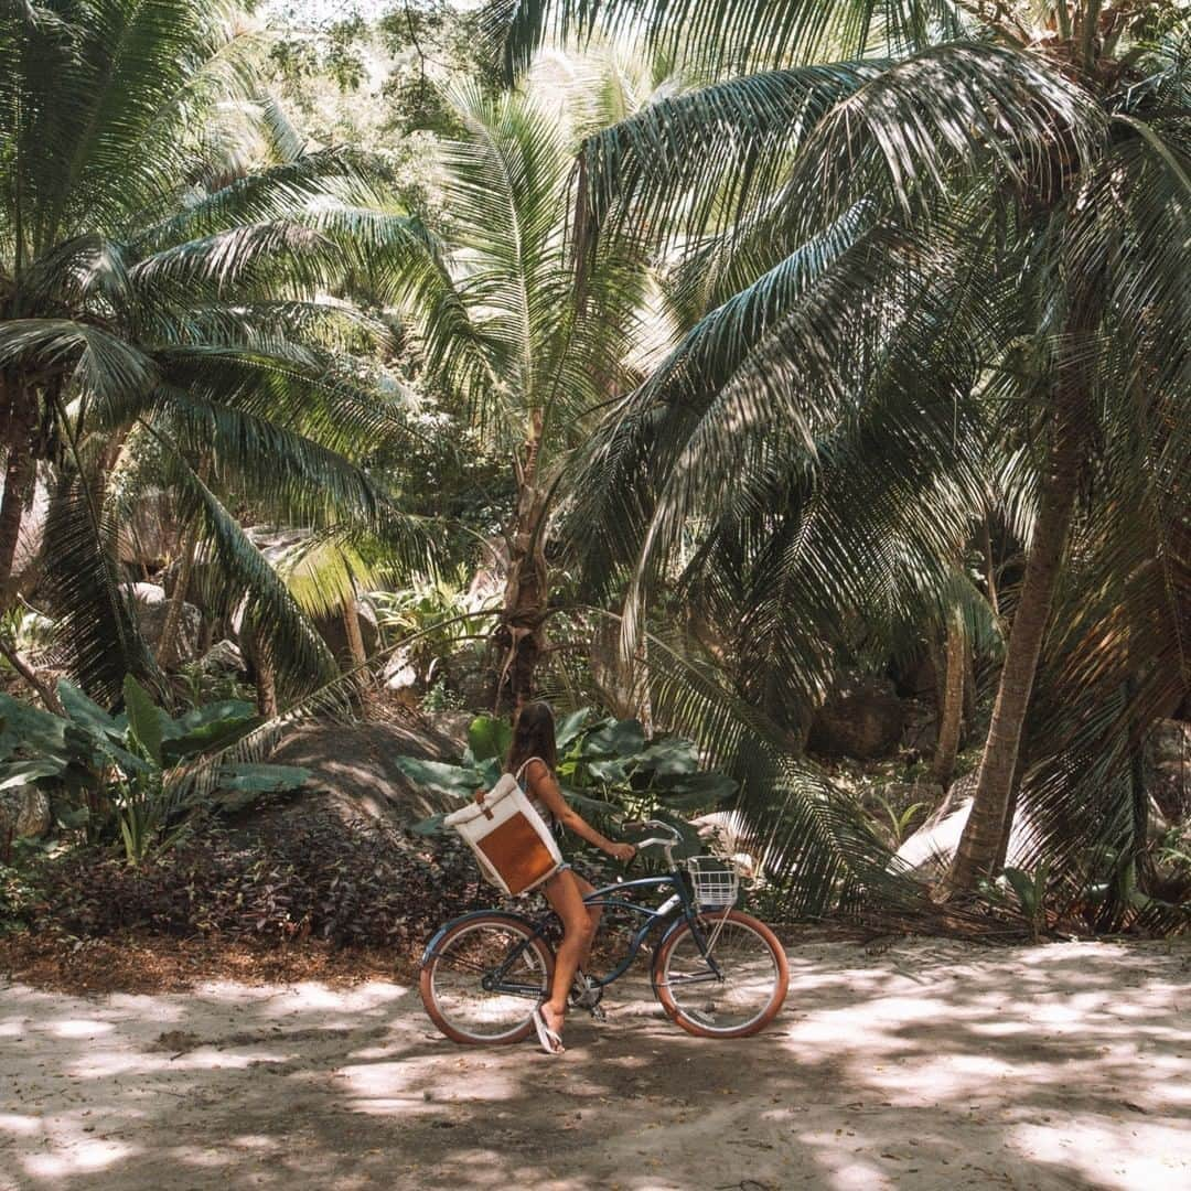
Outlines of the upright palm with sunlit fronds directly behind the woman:
{"type": "Polygon", "coordinates": [[[629,91],[623,75],[585,74],[592,85],[580,100],[575,64],[554,66],[553,87],[540,77],[498,98],[474,85],[448,94],[462,127],[442,148],[451,226],[442,255],[428,252],[404,282],[425,374],[464,398],[485,441],[512,459],[516,504],[495,640],[500,690],[517,705],[547,648],[551,506],[598,411],[631,387],[623,360],[647,276],[631,245],[616,244],[592,254],[575,300],[567,244],[574,152],[601,113],[623,112],[629,91]]]}

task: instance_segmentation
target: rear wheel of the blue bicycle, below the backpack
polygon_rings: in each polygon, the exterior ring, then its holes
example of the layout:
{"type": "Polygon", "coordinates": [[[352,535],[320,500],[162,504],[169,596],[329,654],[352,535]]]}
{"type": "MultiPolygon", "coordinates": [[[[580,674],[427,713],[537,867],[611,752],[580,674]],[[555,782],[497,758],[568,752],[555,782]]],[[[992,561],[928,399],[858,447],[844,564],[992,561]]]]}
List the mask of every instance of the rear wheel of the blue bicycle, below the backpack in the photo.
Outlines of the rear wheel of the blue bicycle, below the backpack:
{"type": "Polygon", "coordinates": [[[517,918],[486,913],[445,931],[422,965],[422,1004],[447,1037],[467,1046],[520,1042],[550,991],[554,952],[517,918]]]}

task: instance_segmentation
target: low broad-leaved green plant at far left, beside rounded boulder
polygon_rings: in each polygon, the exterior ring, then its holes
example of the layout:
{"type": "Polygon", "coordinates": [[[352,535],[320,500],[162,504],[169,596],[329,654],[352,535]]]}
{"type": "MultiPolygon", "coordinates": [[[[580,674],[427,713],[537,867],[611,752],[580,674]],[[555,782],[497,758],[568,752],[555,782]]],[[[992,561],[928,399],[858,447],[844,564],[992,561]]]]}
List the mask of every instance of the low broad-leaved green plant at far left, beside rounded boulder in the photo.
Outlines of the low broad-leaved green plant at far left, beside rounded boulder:
{"type": "MultiPolygon", "coordinates": [[[[172,717],[131,674],[120,715],[66,679],[58,682],[58,699],[64,716],[0,694],[0,787],[43,787],[61,828],[82,829],[93,842],[114,835],[132,865],[176,838],[185,809],[168,792],[175,769],[218,754],[260,722],[255,706],[241,700],[172,717]]],[[[224,805],[241,805],[260,793],[295,788],[310,771],[235,763],[220,766],[216,777],[224,805]]]]}

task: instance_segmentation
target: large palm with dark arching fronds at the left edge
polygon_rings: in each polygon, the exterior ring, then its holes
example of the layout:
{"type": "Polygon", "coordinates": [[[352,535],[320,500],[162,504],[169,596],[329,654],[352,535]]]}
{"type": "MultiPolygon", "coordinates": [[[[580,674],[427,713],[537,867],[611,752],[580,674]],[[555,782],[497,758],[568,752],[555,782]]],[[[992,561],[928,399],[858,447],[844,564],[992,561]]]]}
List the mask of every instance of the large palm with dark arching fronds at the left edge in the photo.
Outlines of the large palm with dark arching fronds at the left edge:
{"type": "Polygon", "coordinates": [[[258,54],[222,4],[0,14],[0,592],[7,607],[35,469],[52,464],[48,586],[77,678],[113,698],[155,669],[114,553],[146,484],[174,493],[183,557],[201,538],[223,599],[247,593],[262,657],[299,685],[331,659],[230,505],[410,542],[362,466],[404,432],[403,398],[361,354],[380,330],[330,295],[399,267],[419,232],[362,206],[364,167],[254,95],[258,54]]]}

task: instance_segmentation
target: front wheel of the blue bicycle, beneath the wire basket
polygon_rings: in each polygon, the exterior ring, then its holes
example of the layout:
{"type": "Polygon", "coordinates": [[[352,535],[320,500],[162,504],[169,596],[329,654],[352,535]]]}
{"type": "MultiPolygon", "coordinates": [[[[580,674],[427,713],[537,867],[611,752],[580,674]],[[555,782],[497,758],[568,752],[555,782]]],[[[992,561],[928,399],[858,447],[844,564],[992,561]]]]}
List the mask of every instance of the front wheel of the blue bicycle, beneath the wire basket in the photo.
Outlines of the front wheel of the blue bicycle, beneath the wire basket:
{"type": "Polygon", "coordinates": [[[741,1039],[778,1016],[790,969],[777,935],[740,910],[675,928],[654,960],[654,993],[671,1019],[699,1037],[741,1039]],[[706,952],[706,953],[705,953],[706,952]]]}

